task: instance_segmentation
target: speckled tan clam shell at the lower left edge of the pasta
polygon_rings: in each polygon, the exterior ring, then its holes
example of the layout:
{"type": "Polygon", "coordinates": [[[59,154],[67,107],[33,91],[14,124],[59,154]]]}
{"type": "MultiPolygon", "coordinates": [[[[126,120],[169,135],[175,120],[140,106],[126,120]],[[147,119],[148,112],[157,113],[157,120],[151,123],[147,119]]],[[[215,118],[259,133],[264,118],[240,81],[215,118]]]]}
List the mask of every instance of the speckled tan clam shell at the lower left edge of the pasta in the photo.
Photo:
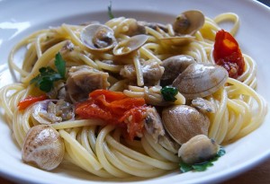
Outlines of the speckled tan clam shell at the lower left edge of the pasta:
{"type": "Polygon", "coordinates": [[[58,167],[65,154],[65,145],[58,131],[48,125],[31,127],[24,139],[23,162],[33,163],[50,171],[58,167]]]}

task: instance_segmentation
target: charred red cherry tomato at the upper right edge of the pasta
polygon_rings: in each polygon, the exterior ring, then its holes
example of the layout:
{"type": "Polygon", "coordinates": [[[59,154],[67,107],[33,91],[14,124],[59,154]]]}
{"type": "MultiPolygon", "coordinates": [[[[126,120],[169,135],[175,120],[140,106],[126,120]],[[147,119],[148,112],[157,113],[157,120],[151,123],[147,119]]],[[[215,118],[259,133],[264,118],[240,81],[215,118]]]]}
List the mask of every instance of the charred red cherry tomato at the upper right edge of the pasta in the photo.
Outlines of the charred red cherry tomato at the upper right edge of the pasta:
{"type": "Polygon", "coordinates": [[[213,57],[217,65],[228,71],[229,77],[236,79],[244,73],[244,57],[237,40],[229,32],[220,30],[216,33],[213,57]]]}

